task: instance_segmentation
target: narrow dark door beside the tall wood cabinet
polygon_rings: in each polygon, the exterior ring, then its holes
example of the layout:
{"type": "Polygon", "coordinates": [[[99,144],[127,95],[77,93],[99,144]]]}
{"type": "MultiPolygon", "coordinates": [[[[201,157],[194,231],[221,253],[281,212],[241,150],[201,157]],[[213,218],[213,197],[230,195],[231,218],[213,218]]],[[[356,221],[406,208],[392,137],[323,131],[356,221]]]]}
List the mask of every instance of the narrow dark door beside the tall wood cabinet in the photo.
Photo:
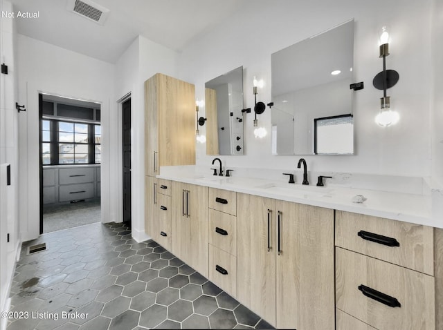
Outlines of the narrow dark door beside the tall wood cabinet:
{"type": "Polygon", "coordinates": [[[131,99],[123,103],[123,222],[131,226],[131,99]]]}

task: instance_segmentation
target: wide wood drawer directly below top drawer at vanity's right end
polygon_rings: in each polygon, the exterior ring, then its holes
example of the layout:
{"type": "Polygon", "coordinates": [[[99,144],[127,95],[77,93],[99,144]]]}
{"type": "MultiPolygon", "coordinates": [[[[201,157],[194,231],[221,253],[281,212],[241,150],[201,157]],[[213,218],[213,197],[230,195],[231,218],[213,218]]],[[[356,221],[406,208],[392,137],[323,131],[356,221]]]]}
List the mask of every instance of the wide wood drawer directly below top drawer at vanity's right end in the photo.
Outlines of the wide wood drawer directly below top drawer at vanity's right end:
{"type": "Polygon", "coordinates": [[[434,278],[336,248],[336,308],[379,330],[434,330],[434,278]]]}

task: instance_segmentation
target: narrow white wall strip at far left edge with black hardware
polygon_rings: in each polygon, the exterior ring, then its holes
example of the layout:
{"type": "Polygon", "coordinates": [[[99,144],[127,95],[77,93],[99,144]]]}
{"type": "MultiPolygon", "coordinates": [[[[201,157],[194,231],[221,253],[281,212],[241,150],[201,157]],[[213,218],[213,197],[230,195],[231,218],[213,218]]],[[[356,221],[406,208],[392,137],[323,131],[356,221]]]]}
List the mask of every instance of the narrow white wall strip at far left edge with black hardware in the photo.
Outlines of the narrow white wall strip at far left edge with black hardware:
{"type": "MultiPolygon", "coordinates": [[[[9,1],[0,1],[0,11],[12,12],[9,1]]],[[[0,63],[8,66],[8,75],[0,74],[0,311],[7,311],[10,282],[15,269],[15,256],[20,246],[18,220],[18,113],[17,61],[15,61],[15,22],[0,20],[0,63]],[[6,182],[6,166],[10,164],[10,186],[6,182]],[[9,234],[9,242],[7,235],[9,234]]],[[[0,320],[0,329],[6,319],[0,320]]]]}

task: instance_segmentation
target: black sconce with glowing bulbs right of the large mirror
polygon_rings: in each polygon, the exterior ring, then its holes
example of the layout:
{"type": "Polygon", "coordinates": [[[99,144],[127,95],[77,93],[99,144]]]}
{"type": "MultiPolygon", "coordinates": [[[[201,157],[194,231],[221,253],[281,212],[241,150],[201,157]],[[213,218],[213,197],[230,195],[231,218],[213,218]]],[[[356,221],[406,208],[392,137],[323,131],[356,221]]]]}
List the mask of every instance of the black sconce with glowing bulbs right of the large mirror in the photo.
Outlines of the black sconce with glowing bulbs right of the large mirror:
{"type": "Polygon", "coordinates": [[[395,70],[386,70],[386,57],[389,55],[389,33],[386,26],[381,28],[380,33],[380,56],[383,58],[383,71],[379,72],[372,80],[375,88],[383,90],[383,97],[380,98],[380,111],[375,122],[382,127],[397,124],[399,114],[390,108],[390,97],[386,95],[386,89],[391,88],[399,81],[399,74],[395,70]]]}

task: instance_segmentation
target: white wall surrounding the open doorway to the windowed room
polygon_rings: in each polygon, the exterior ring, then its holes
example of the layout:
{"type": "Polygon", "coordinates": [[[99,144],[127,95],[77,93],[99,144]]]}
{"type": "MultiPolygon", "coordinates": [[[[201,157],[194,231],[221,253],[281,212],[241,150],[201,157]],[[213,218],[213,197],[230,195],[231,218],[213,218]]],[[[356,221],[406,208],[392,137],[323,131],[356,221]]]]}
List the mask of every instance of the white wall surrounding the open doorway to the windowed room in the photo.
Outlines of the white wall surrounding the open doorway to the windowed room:
{"type": "Polygon", "coordinates": [[[102,221],[118,221],[114,65],[24,35],[17,50],[19,103],[26,105],[19,114],[20,204],[27,206],[19,213],[22,240],[39,235],[39,92],[102,104],[102,221]]]}

